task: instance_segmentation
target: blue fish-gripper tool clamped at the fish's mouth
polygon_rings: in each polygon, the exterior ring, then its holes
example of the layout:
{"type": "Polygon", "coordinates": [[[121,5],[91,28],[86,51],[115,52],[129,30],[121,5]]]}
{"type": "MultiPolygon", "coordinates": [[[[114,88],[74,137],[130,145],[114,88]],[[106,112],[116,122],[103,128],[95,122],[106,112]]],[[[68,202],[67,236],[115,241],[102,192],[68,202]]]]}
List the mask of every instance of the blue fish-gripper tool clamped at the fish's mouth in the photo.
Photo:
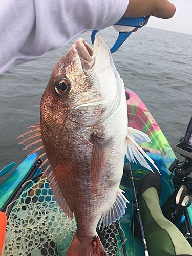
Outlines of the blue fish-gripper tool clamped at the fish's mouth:
{"type": "MultiPolygon", "coordinates": [[[[119,49],[119,47],[123,44],[123,42],[126,40],[126,38],[131,35],[131,33],[133,32],[133,30],[135,28],[143,27],[149,17],[150,16],[144,16],[144,17],[139,17],[139,18],[122,17],[115,25],[113,25],[115,30],[117,30],[119,32],[119,35],[117,37],[117,40],[115,41],[115,44],[110,49],[111,53],[114,53],[115,51],[117,51],[119,49]]],[[[92,44],[94,43],[95,35],[98,31],[99,30],[93,30],[91,33],[92,44]]]]}

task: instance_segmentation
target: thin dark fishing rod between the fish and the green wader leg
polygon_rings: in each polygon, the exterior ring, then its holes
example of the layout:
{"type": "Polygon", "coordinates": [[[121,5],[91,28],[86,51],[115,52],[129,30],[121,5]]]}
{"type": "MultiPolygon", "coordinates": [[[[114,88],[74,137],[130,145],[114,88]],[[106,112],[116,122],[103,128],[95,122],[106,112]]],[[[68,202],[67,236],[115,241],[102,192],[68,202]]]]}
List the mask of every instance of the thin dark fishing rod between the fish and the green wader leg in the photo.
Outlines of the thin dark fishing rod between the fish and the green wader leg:
{"type": "Polygon", "coordinates": [[[135,191],[135,184],[134,184],[134,180],[133,180],[131,164],[124,164],[124,169],[126,169],[126,172],[127,172],[127,168],[129,168],[129,173],[130,173],[131,180],[132,180],[133,192],[134,192],[134,197],[135,197],[135,208],[137,210],[139,225],[140,225],[140,229],[141,229],[141,239],[143,241],[144,253],[145,253],[145,256],[149,256],[147,245],[146,245],[146,240],[145,240],[145,234],[144,234],[144,230],[143,230],[143,224],[142,224],[142,220],[141,220],[141,216],[140,216],[140,210],[139,210],[137,195],[136,195],[136,191],[135,191]]]}

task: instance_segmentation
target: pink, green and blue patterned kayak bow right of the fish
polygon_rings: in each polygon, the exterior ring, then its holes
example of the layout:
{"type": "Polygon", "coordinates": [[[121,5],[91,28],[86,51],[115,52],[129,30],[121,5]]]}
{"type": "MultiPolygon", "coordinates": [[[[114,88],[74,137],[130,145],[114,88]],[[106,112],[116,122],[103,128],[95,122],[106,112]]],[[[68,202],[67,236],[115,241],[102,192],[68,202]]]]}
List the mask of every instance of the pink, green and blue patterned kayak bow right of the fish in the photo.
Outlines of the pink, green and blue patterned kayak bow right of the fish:
{"type": "MultiPolygon", "coordinates": [[[[168,183],[170,176],[168,168],[176,159],[176,156],[160,127],[141,99],[131,90],[126,89],[125,91],[130,96],[127,100],[128,125],[146,133],[152,142],[143,143],[141,146],[146,148],[148,151],[147,154],[155,162],[162,175],[162,191],[166,191],[163,194],[164,196],[160,199],[160,202],[162,203],[173,191],[168,183]]],[[[132,163],[131,166],[133,174],[137,169],[144,170],[144,168],[139,164],[137,165],[132,163]]]]}

